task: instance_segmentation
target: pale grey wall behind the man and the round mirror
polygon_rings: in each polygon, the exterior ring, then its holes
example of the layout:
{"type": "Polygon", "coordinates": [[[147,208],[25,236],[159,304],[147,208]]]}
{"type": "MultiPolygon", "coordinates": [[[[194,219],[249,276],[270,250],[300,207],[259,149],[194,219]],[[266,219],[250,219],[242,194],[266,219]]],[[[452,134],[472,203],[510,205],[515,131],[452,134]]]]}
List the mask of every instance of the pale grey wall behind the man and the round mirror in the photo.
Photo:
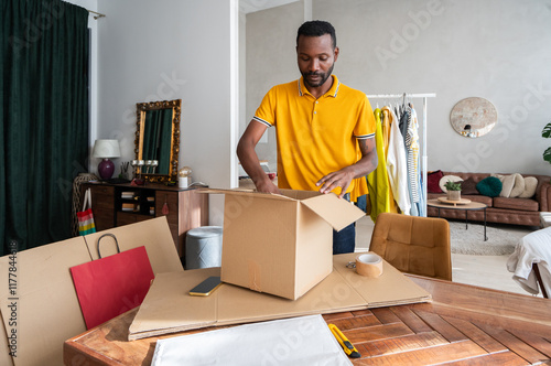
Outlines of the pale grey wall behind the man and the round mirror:
{"type": "MultiPolygon", "coordinates": [[[[248,120],[272,85],[300,76],[296,7],[247,15],[248,120]]],[[[366,94],[436,93],[429,170],[551,174],[541,157],[551,146],[541,138],[551,121],[550,0],[314,0],[313,19],[337,31],[334,73],[344,84],[366,94]],[[450,125],[453,106],[473,96],[498,111],[496,128],[478,139],[450,125]]],[[[413,103],[421,117],[421,100],[413,103]]],[[[260,159],[274,163],[274,149],[270,139],[260,159]]]]}

